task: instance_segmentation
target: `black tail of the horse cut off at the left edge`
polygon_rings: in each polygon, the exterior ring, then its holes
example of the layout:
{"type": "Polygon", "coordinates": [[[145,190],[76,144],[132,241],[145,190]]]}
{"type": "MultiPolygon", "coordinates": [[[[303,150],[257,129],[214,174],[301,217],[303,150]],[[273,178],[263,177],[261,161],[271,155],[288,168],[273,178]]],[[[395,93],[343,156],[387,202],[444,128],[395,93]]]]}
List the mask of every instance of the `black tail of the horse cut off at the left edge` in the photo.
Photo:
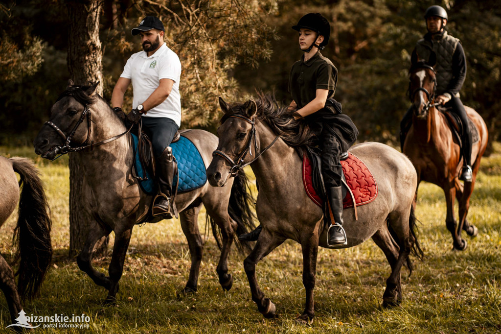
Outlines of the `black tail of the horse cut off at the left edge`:
{"type": "Polygon", "coordinates": [[[52,259],[50,209],[44,186],[33,162],[27,158],[11,159],[14,171],[21,176],[18,225],[14,243],[18,244],[14,263],[19,262],[16,275],[19,295],[33,298],[38,294],[52,259]]]}

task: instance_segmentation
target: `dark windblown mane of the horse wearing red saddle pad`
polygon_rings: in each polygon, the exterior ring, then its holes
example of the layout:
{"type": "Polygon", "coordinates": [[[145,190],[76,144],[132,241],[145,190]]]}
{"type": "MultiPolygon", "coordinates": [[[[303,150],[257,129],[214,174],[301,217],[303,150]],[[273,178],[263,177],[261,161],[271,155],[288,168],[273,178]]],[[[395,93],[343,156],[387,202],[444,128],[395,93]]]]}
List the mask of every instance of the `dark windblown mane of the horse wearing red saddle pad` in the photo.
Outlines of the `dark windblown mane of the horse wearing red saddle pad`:
{"type": "MultiPolygon", "coordinates": [[[[294,119],[294,113],[287,111],[287,107],[280,105],[273,94],[257,91],[253,97],[258,106],[256,117],[266,121],[272,130],[288,145],[295,147],[311,146],[315,134],[304,119],[294,119]]],[[[230,103],[231,111],[221,118],[221,124],[234,114],[245,115],[244,103],[230,103]]]]}

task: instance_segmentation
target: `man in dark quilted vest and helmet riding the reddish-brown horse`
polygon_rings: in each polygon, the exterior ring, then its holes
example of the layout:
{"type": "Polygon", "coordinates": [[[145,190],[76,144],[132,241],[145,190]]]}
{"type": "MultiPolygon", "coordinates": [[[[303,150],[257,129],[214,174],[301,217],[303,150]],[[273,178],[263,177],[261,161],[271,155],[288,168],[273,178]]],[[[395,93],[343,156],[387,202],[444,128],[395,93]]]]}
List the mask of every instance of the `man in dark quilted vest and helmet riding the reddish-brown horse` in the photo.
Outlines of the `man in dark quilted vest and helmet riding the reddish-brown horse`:
{"type": "MultiPolygon", "coordinates": [[[[416,43],[414,53],[419,59],[428,61],[432,52],[436,54],[435,71],[437,73],[437,86],[435,102],[446,107],[451,107],[463,124],[464,133],[461,137],[462,154],[464,158],[463,169],[459,180],[471,182],[471,130],[468,126],[468,117],[464,106],[459,99],[464,78],[466,77],[466,57],[461,42],[450,36],[445,31],[447,24],[447,12],[440,6],[431,6],[424,15],[428,33],[416,43]]],[[[403,151],[405,136],[412,124],[411,106],[400,122],[400,147],[403,151]]]]}

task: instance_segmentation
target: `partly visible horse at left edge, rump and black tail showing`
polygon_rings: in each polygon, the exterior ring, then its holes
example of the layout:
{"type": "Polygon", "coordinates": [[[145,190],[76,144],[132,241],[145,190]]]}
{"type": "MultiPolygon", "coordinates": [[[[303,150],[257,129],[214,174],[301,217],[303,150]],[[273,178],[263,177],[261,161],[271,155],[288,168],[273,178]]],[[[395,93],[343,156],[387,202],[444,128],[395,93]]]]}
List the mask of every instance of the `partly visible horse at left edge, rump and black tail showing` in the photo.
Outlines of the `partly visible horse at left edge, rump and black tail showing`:
{"type": "Polygon", "coordinates": [[[14,230],[17,248],[16,275],[0,254],[0,288],[5,294],[12,322],[21,311],[21,299],[39,292],[52,260],[51,218],[44,186],[33,162],[28,158],[0,156],[0,226],[11,216],[19,202],[18,223],[14,230]],[[21,177],[18,183],[16,174],[21,177]],[[21,195],[20,195],[20,186],[21,195]]]}

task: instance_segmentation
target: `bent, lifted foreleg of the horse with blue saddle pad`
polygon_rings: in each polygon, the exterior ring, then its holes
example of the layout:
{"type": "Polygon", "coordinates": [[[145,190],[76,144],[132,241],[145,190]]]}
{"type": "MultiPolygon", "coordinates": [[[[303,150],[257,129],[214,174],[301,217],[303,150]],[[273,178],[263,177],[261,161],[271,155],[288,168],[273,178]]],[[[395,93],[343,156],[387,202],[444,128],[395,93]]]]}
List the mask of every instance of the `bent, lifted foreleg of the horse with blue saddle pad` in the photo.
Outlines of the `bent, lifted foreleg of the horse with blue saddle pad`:
{"type": "Polygon", "coordinates": [[[103,226],[94,221],[90,227],[89,235],[85,241],[80,254],[77,256],[77,264],[80,270],[85,272],[97,285],[104,286],[106,289],[110,288],[110,281],[103,273],[100,273],[92,266],[92,256],[94,246],[101,238],[110,234],[110,230],[106,230],[103,226]]]}

